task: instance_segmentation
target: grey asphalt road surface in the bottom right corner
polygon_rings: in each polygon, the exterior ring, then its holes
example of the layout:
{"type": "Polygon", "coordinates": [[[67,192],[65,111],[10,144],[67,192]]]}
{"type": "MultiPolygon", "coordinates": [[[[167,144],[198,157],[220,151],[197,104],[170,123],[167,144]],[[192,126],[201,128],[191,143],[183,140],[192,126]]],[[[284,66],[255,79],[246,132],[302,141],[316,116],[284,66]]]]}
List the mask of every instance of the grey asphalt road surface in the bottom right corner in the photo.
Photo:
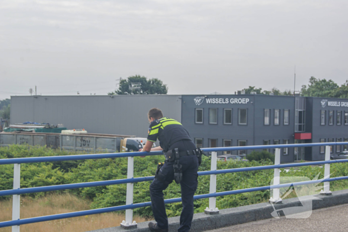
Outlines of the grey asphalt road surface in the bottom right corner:
{"type": "Polygon", "coordinates": [[[312,211],[307,219],[267,219],[209,232],[348,232],[348,204],[312,211]]]}

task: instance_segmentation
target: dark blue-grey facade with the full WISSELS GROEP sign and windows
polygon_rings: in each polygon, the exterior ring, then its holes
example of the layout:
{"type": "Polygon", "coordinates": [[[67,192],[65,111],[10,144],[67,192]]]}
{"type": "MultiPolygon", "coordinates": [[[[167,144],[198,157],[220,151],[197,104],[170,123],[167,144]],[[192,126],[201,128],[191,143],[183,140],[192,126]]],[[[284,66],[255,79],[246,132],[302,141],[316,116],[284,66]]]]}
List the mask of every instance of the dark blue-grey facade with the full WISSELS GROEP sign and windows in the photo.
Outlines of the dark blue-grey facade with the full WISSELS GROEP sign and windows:
{"type": "MultiPolygon", "coordinates": [[[[202,144],[202,147],[229,147],[294,143],[294,97],[184,95],[182,100],[182,124],[198,146],[199,144],[202,144]],[[284,110],[287,112],[285,124],[284,110]],[[274,118],[275,111],[276,118],[274,118]],[[200,114],[203,115],[203,120],[197,118],[200,114]],[[217,115],[216,120],[215,115],[217,115]]],[[[246,155],[250,152],[244,150],[232,154],[246,155]]],[[[282,149],[281,162],[293,161],[294,157],[290,155],[293,153],[293,149],[282,149]]]]}

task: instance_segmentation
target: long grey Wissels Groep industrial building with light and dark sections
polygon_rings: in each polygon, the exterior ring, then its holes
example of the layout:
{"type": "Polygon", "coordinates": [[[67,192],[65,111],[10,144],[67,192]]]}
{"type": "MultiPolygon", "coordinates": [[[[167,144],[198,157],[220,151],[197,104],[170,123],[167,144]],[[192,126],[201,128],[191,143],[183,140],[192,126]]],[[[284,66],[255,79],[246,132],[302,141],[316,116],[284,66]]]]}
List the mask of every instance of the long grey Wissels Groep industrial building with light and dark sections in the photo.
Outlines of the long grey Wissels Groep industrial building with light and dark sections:
{"type": "MultiPolygon", "coordinates": [[[[162,109],[199,147],[348,141],[348,99],[273,95],[12,96],[11,123],[63,124],[89,133],[147,136],[162,109]]],[[[347,146],[332,146],[340,153],[347,146]]],[[[238,151],[245,155],[251,151],[238,151]]],[[[269,152],[274,152],[269,150],[269,152]]],[[[324,160],[324,147],[281,149],[281,162],[324,160]]]]}

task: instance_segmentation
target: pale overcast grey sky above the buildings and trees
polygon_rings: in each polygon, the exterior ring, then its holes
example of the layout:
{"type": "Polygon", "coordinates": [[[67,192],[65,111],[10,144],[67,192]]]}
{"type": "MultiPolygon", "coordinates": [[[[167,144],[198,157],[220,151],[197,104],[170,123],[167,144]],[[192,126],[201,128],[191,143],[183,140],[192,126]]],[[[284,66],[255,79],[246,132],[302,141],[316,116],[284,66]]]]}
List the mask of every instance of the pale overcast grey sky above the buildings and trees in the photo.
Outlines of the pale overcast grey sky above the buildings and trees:
{"type": "Polygon", "coordinates": [[[348,78],[348,0],[0,0],[0,99],[104,95],[159,78],[169,94],[296,89],[348,78]]]}

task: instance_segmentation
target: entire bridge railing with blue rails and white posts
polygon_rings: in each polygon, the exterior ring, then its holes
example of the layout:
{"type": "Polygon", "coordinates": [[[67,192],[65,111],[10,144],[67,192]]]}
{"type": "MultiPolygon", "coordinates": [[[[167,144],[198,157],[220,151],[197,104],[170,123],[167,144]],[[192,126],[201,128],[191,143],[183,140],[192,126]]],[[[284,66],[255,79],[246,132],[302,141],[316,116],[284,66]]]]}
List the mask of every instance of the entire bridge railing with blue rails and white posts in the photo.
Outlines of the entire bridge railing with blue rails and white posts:
{"type": "MultiPolygon", "coordinates": [[[[270,198],[271,202],[281,201],[279,197],[279,188],[306,185],[313,183],[324,182],[324,191],[322,194],[330,194],[330,181],[344,180],[348,179],[348,176],[341,176],[335,178],[330,177],[330,163],[337,162],[348,162],[348,159],[330,160],[330,146],[348,145],[348,142],[339,143],[312,143],[312,144],[284,144],[284,145],[263,145],[263,146],[245,146],[245,147],[223,147],[223,148],[204,148],[204,152],[211,152],[211,170],[210,171],[200,171],[198,175],[210,175],[210,189],[209,194],[202,194],[194,196],[194,199],[209,198],[209,207],[205,210],[207,214],[216,214],[218,209],[216,208],[216,197],[226,196],[232,194],[263,191],[273,189],[273,195],[270,198]],[[282,148],[293,148],[293,147],[315,147],[315,146],[325,146],[325,161],[314,161],[314,162],[300,162],[300,163],[288,163],[280,164],[280,149],[282,148]],[[258,150],[258,149],[275,149],[275,161],[274,165],[266,166],[256,166],[256,167],[243,167],[243,168],[232,168],[217,170],[217,152],[223,151],[238,151],[238,150],[258,150]],[[280,180],[280,168],[295,167],[295,166],[307,166],[307,165],[321,165],[325,164],[324,179],[302,181],[296,183],[279,184],[280,180]],[[254,187],[248,189],[231,190],[225,192],[216,192],[216,175],[223,173],[233,173],[233,172],[243,172],[243,171],[255,171],[255,170],[265,170],[274,169],[274,181],[273,185],[254,187]]],[[[133,204],[133,183],[142,181],[151,181],[154,176],[147,177],[137,177],[134,178],[134,157],[144,156],[144,155],[162,155],[162,152],[132,152],[132,153],[112,153],[112,154],[93,154],[93,155],[66,155],[66,156],[48,156],[48,157],[28,157],[28,158],[8,158],[0,159],[0,165],[2,164],[14,164],[14,175],[13,175],[13,189],[12,190],[2,190],[0,191],[0,196],[13,195],[12,203],[12,221],[0,222],[0,228],[12,226],[12,232],[19,232],[19,226],[24,224],[31,224],[37,222],[45,222],[57,219],[73,218],[79,216],[86,216],[92,214],[100,214],[114,211],[125,210],[125,220],[121,223],[124,228],[136,227],[136,222],[133,221],[133,209],[151,206],[151,202],[137,203],[133,204]],[[118,180],[107,180],[107,181],[95,181],[87,183],[76,183],[76,184],[62,184],[53,186],[42,186],[33,188],[20,188],[20,163],[33,163],[33,162],[53,162],[53,161],[67,161],[67,160],[84,160],[84,159],[100,159],[100,158],[116,158],[116,157],[128,157],[128,171],[127,179],[118,180]],[[37,193],[46,192],[54,190],[66,190],[75,188],[85,188],[85,187],[96,187],[105,186],[113,184],[124,184],[127,183],[127,196],[126,205],[108,207],[102,209],[86,210],[65,214],[49,215],[35,218],[20,219],[20,194],[24,193],[37,193]]],[[[166,199],[165,203],[180,202],[181,198],[166,199]]]]}

